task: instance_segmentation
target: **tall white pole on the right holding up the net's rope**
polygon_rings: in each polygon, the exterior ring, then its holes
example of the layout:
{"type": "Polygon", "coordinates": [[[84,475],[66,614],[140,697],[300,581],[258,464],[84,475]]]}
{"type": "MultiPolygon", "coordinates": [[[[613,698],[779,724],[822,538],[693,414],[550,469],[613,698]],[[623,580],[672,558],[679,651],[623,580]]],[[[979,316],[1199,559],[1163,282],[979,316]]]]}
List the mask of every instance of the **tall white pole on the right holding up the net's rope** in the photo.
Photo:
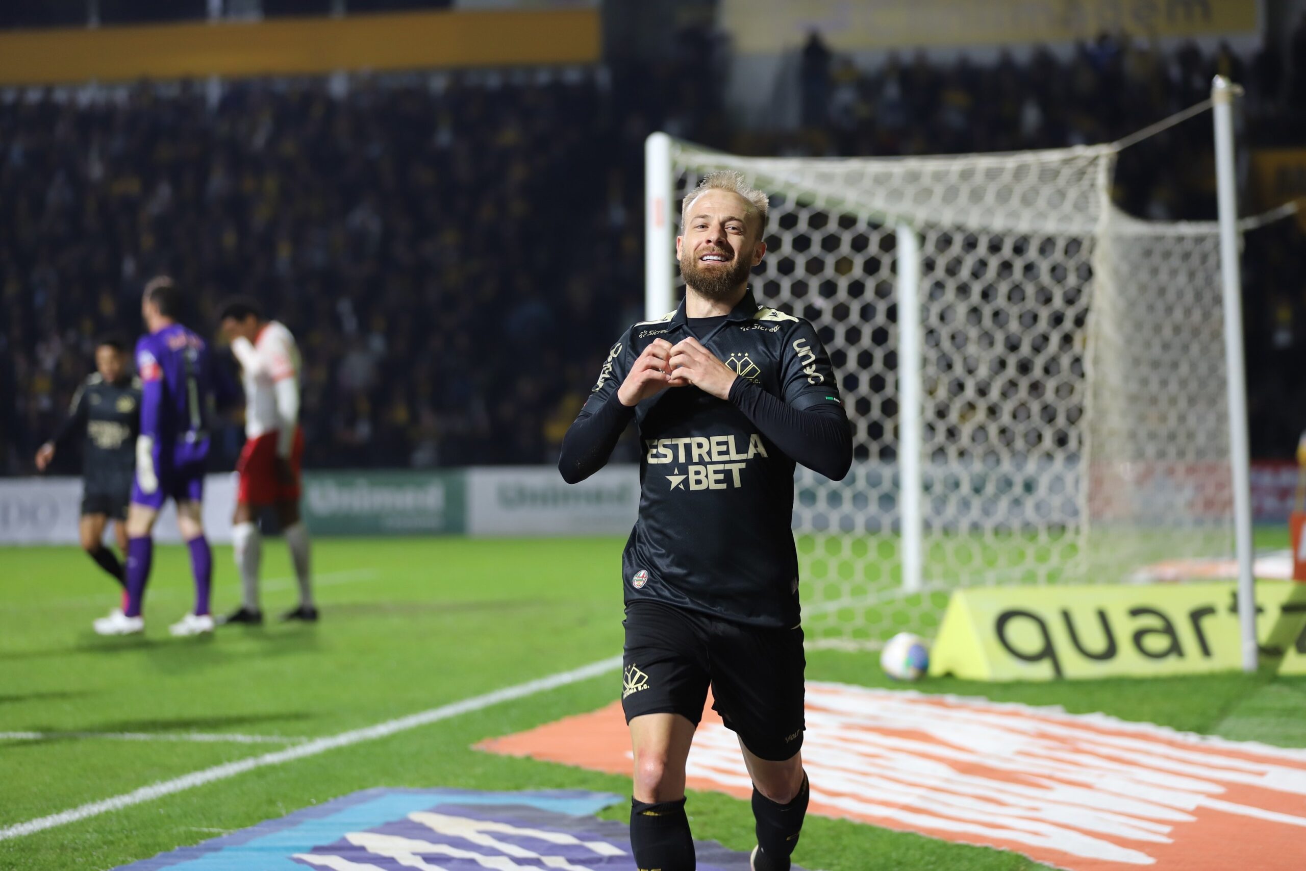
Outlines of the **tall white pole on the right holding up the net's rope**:
{"type": "Polygon", "coordinates": [[[1242,350],[1242,276],[1238,202],[1234,193],[1233,98],[1241,87],[1224,76],[1211,84],[1216,125],[1216,193],[1220,210],[1220,276],[1224,290],[1225,367],[1229,375],[1229,453],[1233,465],[1234,541],[1238,548],[1238,628],[1242,670],[1255,671],[1256,590],[1251,576],[1251,462],[1247,448],[1247,376],[1242,350]]]}

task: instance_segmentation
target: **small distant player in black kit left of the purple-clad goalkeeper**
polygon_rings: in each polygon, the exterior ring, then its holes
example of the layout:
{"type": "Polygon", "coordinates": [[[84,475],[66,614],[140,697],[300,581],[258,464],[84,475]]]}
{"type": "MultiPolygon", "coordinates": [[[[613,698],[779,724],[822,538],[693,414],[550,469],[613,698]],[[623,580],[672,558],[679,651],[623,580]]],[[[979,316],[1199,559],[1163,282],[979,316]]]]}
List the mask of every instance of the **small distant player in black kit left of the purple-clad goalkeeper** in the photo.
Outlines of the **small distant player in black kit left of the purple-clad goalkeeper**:
{"type": "Polygon", "coordinates": [[[127,368],[127,343],[103,338],[95,346],[95,372],[77,388],[68,418],[37,451],[37,469],[44,471],[59,448],[74,436],[84,436],[81,546],[123,585],[123,563],[104,547],[104,526],[114,521],[118,547],[125,554],[127,503],[132,495],[140,420],[141,383],[127,368]]]}

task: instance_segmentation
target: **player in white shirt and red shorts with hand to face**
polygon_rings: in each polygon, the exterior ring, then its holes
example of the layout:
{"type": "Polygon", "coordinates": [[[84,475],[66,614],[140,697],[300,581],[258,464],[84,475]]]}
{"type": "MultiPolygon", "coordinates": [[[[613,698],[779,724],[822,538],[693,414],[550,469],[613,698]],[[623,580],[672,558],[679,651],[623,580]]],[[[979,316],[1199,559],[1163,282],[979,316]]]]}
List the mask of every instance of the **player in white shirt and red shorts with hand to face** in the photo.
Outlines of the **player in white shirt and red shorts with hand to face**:
{"type": "Polygon", "coordinates": [[[232,299],[222,307],[222,332],[240,362],[246,390],[246,447],[236,471],[236,511],[231,543],[240,571],[240,607],[222,623],[263,623],[259,606],[259,559],[263,538],[257,511],[270,505],[290,547],[299,581],[299,607],[283,620],[316,620],[310,577],[308,528],[299,518],[300,462],[304,435],[299,428],[299,349],[285,325],[264,320],[259,306],[232,299]]]}

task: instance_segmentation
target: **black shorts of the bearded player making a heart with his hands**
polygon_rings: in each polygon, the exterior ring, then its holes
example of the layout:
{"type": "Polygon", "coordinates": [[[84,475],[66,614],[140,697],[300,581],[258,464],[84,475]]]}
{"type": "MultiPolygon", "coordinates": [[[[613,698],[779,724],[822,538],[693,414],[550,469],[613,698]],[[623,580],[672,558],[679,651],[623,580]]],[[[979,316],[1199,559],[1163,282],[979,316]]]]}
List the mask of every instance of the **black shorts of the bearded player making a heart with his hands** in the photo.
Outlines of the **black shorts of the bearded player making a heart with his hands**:
{"type": "Polygon", "coordinates": [[[626,606],[622,708],[680,714],[712,709],[755,756],[789,759],[803,746],[803,631],[722,620],[660,602],[626,606]]]}

